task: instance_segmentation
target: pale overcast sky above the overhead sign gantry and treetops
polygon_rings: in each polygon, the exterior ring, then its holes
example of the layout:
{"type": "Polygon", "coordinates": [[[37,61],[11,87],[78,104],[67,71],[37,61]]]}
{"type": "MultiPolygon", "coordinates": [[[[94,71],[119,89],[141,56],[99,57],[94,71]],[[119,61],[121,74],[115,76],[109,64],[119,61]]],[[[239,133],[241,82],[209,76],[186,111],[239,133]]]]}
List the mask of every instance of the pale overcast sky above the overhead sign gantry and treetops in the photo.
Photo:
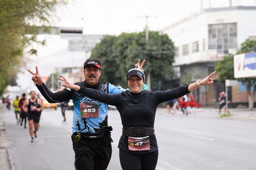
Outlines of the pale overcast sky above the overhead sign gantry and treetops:
{"type": "MultiPolygon", "coordinates": [[[[229,6],[230,0],[69,0],[56,26],[83,27],[84,34],[119,35],[162,28],[203,8],[229,6]]],[[[232,0],[232,5],[254,5],[255,0],[232,0]]]]}

